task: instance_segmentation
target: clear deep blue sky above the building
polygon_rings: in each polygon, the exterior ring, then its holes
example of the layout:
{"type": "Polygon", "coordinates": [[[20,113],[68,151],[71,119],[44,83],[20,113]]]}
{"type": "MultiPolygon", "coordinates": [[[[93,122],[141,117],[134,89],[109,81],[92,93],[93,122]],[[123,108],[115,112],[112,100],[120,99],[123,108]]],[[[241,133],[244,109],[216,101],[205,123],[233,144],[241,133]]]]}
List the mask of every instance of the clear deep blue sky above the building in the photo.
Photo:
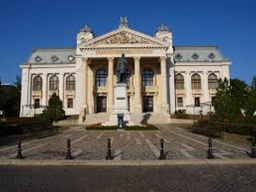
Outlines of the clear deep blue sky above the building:
{"type": "Polygon", "coordinates": [[[232,61],[230,75],[251,83],[256,75],[256,1],[2,1],[0,77],[13,82],[35,47],[75,47],[89,23],[96,33],[114,30],[126,15],[132,29],[152,35],[166,23],[174,45],[217,45],[232,61]]]}

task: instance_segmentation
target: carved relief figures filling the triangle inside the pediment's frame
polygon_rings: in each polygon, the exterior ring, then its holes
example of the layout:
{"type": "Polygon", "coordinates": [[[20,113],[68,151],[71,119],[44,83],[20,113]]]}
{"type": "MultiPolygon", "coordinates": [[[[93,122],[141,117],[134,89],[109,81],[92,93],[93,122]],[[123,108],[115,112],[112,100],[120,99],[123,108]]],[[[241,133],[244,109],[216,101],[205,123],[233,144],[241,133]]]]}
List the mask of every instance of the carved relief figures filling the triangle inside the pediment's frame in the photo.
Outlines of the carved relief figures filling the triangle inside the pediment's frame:
{"type": "Polygon", "coordinates": [[[158,44],[158,42],[141,37],[127,31],[120,31],[119,33],[105,37],[90,45],[108,45],[108,44],[158,44]]]}

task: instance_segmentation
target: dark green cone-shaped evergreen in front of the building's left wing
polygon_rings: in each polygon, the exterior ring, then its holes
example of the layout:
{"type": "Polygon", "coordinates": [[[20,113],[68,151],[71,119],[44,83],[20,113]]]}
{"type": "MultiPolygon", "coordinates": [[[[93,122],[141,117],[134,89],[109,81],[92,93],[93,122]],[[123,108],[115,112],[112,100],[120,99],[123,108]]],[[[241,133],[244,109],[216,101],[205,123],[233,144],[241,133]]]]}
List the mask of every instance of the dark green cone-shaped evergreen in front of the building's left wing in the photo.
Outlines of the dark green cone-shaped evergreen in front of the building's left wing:
{"type": "Polygon", "coordinates": [[[50,121],[58,121],[65,117],[65,111],[62,108],[62,102],[56,93],[53,93],[52,97],[49,99],[48,106],[42,113],[42,117],[50,121]]]}

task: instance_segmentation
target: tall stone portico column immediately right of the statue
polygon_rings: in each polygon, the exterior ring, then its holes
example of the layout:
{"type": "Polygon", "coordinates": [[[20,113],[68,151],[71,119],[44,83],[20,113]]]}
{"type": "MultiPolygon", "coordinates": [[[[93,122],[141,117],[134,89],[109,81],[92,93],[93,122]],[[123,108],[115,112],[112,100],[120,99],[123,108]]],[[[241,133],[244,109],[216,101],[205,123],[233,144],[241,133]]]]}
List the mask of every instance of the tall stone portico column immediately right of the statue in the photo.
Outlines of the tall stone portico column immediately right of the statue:
{"type": "Polygon", "coordinates": [[[134,78],[134,112],[141,113],[140,57],[134,57],[134,78]]]}

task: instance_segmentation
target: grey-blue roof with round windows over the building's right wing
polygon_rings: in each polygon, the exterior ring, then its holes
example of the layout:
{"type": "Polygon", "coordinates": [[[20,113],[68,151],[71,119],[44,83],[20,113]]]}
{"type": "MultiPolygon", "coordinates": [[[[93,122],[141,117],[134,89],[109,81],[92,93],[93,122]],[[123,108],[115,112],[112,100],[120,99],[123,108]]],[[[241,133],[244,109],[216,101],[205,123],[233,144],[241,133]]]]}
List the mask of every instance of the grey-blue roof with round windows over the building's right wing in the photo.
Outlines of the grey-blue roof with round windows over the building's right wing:
{"type": "Polygon", "coordinates": [[[218,46],[175,46],[174,60],[176,62],[228,61],[222,56],[218,46]]]}

